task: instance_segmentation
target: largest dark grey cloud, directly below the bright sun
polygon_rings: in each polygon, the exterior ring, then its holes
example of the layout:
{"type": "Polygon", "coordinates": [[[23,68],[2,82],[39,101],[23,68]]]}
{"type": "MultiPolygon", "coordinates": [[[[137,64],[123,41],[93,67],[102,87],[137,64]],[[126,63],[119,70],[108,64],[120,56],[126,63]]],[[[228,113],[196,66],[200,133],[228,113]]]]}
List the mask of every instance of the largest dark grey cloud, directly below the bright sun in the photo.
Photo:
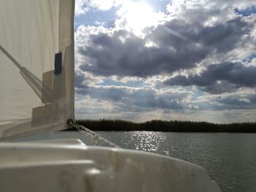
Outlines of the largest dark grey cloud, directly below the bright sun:
{"type": "Polygon", "coordinates": [[[102,76],[147,77],[172,73],[195,67],[213,52],[225,54],[233,50],[251,29],[252,25],[238,17],[206,27],[200,20],[192,23],[170,20],[157,28],[147,28],[145,39],[124,30],[113,35],[91,34],[88,45],[78,48],[80,55],[91,58],[80,69],[102,76]],[[171,34],[166,28],[189,40],[171,34]],[[154,42],[157,47],[146,47],[146,42],[154,42]]]}

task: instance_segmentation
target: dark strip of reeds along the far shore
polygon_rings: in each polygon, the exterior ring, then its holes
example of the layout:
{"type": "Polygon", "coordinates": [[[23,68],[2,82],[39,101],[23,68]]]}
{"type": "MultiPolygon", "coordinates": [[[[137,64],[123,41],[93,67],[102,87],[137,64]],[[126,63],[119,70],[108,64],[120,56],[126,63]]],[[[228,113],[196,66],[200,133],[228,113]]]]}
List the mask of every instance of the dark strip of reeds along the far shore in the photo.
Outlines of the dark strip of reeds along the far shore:
{"type": "Polygon", "coordinates": [[[134,123],[126,120],[76,120],[93,131],[173,131],[173,132],[233,132],[256,133],[255,123],[215,124],[180,120],[150,120],[134,123]]]}

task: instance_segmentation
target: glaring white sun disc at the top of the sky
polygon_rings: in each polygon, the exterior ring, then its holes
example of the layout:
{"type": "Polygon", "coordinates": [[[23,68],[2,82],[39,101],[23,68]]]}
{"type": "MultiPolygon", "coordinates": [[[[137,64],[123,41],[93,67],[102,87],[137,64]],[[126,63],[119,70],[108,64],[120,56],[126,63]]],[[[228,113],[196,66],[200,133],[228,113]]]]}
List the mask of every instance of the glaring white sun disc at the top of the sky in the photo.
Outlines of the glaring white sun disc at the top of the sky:
{"type": "Polygon", "coordinates": [[[127,27],[135,34],[140,34],[143,28],[154,24],[154,12],[144,2],[132,2],[127,5],[124,12],[127,27]]]}

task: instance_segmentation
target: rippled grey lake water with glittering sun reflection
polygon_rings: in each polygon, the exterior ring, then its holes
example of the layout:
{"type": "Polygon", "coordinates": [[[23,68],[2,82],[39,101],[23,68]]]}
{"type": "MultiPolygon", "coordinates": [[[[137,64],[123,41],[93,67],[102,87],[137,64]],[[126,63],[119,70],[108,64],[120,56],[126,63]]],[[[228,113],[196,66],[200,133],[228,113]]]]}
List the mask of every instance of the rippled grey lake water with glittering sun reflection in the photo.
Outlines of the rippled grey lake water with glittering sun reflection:
{"type": "MultiPolygon", "coordinates": [[[[256,134],[98,131],[120,147],[168,155],[206,168],[223,192],[256,191],[256,134]]],[[[23,140],[79,138],[77,131],[42,134],[23,140]]],[[[94,144],[94,142],[91,142],[94,144]]]]}

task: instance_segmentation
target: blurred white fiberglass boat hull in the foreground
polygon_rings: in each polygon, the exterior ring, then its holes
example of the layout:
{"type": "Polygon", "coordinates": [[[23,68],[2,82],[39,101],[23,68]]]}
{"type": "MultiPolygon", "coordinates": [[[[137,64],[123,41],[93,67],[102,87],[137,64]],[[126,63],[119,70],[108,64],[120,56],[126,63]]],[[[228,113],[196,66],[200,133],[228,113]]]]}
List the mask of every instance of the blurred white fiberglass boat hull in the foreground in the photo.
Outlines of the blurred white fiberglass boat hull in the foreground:
{"type": "Polygon", "coordinates": [[[0,156],[1,191],[220,191],[195,164],[77,139],[1,143],[0,156]]]}

